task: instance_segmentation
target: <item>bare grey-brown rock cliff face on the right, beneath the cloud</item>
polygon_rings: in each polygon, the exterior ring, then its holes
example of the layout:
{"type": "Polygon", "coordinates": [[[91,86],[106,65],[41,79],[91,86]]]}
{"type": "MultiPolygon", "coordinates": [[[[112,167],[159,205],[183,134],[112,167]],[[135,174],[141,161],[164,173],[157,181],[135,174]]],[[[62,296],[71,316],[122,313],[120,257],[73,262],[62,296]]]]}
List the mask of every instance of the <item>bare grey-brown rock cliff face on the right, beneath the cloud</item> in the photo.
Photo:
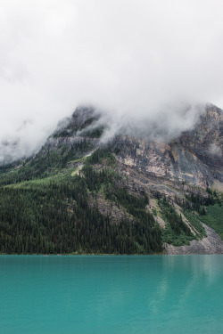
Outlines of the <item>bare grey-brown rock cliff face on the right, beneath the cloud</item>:
{"type": "Polygon", "coordinates": [[[169,143],[119,135],[113,149],[137,171],[206,189],[223,181],[223,112],[207,106],[194,129],[169,143]]]}

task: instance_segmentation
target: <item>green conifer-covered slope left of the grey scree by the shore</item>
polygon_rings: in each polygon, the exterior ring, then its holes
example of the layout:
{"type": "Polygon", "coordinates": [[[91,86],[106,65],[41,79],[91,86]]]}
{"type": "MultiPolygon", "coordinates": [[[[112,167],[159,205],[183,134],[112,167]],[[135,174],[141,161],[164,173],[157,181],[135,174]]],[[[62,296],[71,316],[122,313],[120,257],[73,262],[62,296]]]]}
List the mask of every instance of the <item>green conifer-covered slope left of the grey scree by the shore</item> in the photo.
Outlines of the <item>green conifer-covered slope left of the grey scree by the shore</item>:
{"type": "MultiPolygon", "coordinates": [[[[115,159],[105,149],[86,159],[82,176],[73,175],[70,161],[79,161],[90,148],[87,141],[70,149],[40,151],[17,168],[0,173],[0,252],[6,254],[151,254],[159,253],[161,230],[145,211],[145,196],[136,198],[121,187],[115,199],[132,215],[112,224],[89,195],[106,192],[120,182],[111,170],[115,159]],[[91,163],[103,162],[95,171],[91,163]],[[107,167],[106,167],[107,166],[107,167]],[[134,223],[133,223],[134,220],[134,223]]],[[[111,199],[112,200],[112,199],[111,199]]]]}

